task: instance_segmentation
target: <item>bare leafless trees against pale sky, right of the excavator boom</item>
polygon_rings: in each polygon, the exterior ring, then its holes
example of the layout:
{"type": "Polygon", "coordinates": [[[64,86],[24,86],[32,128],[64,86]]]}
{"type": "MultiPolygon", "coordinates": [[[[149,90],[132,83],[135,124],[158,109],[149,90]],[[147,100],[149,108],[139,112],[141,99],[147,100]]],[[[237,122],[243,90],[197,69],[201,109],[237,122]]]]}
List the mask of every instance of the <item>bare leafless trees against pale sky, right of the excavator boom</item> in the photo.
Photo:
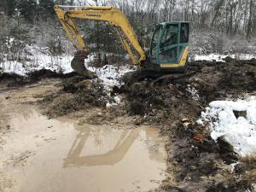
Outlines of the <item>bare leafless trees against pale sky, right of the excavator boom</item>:
{"type": "MultiPolygon", "coordinates": [[[[110,1],[111,2],[111,1],[110,1]]],[[[214,29],[248,39],[256,36],[255,0],[114,0],[126,15],[147,26],[166,20],[187,20],[192,29],[214,29]]]]}

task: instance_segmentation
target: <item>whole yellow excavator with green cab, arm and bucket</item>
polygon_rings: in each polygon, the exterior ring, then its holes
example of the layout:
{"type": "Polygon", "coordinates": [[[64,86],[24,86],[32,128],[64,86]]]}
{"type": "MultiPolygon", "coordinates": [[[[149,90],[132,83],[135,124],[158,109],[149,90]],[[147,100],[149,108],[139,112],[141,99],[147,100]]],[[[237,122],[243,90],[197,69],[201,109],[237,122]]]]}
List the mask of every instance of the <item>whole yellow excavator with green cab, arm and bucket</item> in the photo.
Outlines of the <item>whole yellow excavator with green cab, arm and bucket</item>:
{"type": "Polygon", "coordinates": [[[153,73],[183,71],[189,56],[189,23],[163,22],[155,26],[154,35],[147,53],[139,44],[137,36],[126,16],[108,6],[65,6],[55,5],[55,13],[67,32],[67,37],[77,50],[71,66],[73,70],[85,76],[90,71],[84,67],[84,59],[89,50],[79,32],[74,19],[107,21],[115,26],[131,63],[153,73]],[[132,46],[132,47],[131,47],[132,46]]]}

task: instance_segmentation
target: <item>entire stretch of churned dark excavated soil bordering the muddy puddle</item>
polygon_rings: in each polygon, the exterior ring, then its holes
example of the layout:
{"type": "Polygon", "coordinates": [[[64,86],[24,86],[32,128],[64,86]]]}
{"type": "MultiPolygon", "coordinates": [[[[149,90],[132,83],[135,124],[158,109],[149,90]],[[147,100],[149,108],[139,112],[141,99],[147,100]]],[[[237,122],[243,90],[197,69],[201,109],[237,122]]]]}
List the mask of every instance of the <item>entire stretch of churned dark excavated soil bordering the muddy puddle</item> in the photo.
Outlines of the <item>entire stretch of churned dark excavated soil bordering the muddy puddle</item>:
{"type": "MultiPolygon", "coordinates": [[[[38,79],[38,75],[30,77],[38,79]]],[[[172,177],[166,178],[159,191],[253,189],[255,166],[246,165],[255,165],[255,159],[241,159],[221,138],[215,143],[207,125],[196,125],[195,120],[213,100],[255,94],[255,59],[194,61],[182,75],[143,79],[114,87],[110,92],[98,79],[74,74],[53,77],[62,79],[57,85],[59,89],[36,103],[49,117],[67,116],[78,119],[80,125],[154,125],[168,137],[167,172],[172,177]],[[230,164],[237,160],[241,167],[235,166],[231,172],[230,164]]],[[[1,78],[8,79],[3,74],[1,78]]],[[[10,79],[8,82],[13,85],[19,77],[10,79]]]]}

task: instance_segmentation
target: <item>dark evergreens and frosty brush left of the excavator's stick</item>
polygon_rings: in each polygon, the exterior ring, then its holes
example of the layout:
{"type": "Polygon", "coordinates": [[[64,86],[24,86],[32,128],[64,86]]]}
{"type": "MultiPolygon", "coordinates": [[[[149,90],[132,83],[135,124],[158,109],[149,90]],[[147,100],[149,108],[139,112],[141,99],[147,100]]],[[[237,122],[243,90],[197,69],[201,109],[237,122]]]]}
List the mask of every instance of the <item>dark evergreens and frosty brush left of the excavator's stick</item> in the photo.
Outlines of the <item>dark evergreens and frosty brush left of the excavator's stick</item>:
{"type": "Polygon", "coordinates": [[[72,5],[73,1],[0,1],[0,62],[24,60],[26,45],[47,47],[53,55],[64,52],[66,43],[55,20],[55,3],[72,5]]]}

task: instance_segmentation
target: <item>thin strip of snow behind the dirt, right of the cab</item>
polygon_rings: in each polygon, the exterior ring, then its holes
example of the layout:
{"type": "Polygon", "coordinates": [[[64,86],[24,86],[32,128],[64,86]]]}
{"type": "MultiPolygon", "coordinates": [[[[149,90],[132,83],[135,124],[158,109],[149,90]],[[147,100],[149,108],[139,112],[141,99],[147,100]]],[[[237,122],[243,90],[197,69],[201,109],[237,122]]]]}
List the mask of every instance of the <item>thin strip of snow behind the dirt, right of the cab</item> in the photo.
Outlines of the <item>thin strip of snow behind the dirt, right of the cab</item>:
{"type": "Polygon", "coordinates": [[[230,56],[233,59],[238,60],[250,60],[255,58],[253,55],[249,54],[240,54],[240,55],[218,55],[218,54],[210,54],[210,55],[195,55],[195,61],[224,61],[224,58],[230,56]]]}

